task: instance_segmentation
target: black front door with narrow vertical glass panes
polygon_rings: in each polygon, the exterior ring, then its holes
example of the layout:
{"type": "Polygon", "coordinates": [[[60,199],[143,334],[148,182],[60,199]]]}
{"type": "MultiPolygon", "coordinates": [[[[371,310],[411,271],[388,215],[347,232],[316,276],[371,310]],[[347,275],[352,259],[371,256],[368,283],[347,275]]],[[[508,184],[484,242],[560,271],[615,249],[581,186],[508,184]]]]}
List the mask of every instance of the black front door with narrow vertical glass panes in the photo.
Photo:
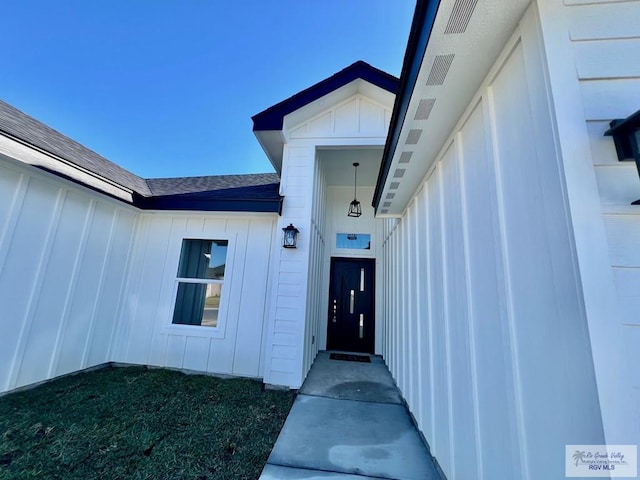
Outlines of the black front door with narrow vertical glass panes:
{"type": "Polygon", "coordinates": [[[375,260],[332,258],[327,350],[374,353],[375,260]]]}

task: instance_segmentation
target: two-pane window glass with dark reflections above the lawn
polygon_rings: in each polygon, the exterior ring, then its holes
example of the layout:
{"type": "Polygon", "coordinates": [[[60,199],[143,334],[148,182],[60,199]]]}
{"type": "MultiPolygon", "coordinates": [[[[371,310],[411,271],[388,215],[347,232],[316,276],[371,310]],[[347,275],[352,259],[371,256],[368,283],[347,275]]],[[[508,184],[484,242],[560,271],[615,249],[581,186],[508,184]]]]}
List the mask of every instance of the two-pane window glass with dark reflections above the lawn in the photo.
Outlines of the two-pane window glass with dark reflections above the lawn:
{"type": "Polygon", "coordinates": [[[173,323],[218,326],[228,240],[182,240],[173,323]]]}

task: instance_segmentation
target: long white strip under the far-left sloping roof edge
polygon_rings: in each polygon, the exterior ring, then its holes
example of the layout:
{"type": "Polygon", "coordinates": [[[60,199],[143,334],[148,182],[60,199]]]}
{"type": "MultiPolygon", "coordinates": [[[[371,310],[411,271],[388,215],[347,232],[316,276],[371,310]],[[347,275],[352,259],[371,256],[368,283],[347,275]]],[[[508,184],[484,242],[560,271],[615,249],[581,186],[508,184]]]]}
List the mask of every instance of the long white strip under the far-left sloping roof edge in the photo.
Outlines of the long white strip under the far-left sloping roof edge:
{"type": "Polygon", "coordinates": [[[133,202],[132,190],[5,133],[0,134],[0,154],[59,174],[127,203],[133,202]]]}

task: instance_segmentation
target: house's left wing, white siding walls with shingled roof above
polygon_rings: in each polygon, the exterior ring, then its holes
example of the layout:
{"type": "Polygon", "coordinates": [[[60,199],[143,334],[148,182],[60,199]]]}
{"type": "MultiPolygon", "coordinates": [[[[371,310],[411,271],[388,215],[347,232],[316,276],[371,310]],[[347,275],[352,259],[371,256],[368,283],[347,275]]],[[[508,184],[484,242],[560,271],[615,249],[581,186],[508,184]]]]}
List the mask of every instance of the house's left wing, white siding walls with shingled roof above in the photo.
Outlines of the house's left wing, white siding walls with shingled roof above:
{"type": "Polygon", "coordinates": [[[144,180],[0,113],[1,390],[106,362],[262,377],[278,177],[144,180]],[[185,238],[228,242],[215,328],[172,322],[185,238]]]}

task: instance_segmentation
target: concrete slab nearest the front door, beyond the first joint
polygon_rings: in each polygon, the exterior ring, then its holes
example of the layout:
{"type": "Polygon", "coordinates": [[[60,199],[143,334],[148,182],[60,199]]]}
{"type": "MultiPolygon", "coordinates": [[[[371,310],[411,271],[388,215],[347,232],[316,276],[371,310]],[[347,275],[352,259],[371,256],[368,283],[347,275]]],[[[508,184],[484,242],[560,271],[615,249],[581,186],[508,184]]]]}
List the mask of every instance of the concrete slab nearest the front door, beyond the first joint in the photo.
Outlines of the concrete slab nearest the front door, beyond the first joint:
{"type": "Polygon", "coordinates": [[[371,355],[371,363],[329,359],[320,352],[300,393],[363,402],[402,403],[400,393],[381,357],[371,355]]]}

